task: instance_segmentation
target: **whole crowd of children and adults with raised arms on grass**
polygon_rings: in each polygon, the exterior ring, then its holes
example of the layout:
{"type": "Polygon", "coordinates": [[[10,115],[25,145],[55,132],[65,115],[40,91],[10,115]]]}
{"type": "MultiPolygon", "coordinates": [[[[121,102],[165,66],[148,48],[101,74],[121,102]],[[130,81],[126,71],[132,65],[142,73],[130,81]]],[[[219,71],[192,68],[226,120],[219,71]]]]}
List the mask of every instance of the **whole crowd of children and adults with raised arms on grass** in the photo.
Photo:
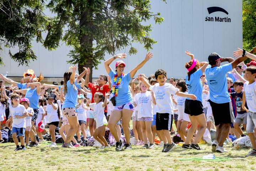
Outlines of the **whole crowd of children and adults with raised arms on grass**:
{"type": "Polygon", "coordinates": [[[90,137],[86,133],[101,144],[100,149],[111,148],[104,137],[109,128],[116,151],[123,147],[132,149],[132,132],[133,144],[144,149],[155,148],[158,136],[158,146],[166,153],[176,147],[171,138],[175,122],[183,149],[200,150],[198,144],[203,139],[211,143],[212,151],[224,153],[223,145],[230,134],[235,134],[236,139],[247,134],[252,150],[246,156],[256,156],[256,63],[252,61],[248,67],[243,63],[247,58],[256,60],[255,52],[256,47],[250,52],[238,49],[234,52],[235,60],[212,53],[208,62],[199,62],[187,51],[191,60],[185,64],[186,79],[176,82],[171,78],[170,83],[166,82],[166,71],[158,69],[149,78],[139,74],[130,86],[130,80],[153,57],[152,53],[147,53],[126,74],[122,61],[126,54],[115,55],[105,62],[108,76],[101,74],[95,82],[89,82],[89,68],[79,75],[76,66],[64,73],[61,85],[41,84],[42,74],[37,78],[33,70],[24,73],[20,83],[0,74],[0,128],[10,127],[15,150],[26,150],[43,142],[43,135],[48,133],[45,127],[49,128],[52,140],[48,146],[57,147],[55,130],[59,127],[63,148],[85,144],[90,137]],[[110,64],[116,59],[119,60],[113,70],[110,64]],[[220,65],[222,62],[229,63],[220,65]],[[5,86],[5,82],[11,86],[5,86]],[[216,138],[209,140],[212,128],[216,129],[216,138]]]}

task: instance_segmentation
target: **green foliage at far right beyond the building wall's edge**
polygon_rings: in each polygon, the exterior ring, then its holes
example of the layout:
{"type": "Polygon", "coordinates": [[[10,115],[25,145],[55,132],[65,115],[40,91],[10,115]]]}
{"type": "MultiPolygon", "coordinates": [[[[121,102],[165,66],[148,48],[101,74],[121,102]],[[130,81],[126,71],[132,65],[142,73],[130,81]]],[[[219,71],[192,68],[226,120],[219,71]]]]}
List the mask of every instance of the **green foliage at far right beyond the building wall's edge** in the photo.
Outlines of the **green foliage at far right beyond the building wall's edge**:
{"type": "MultiPolygon", "coordinates": [[[[256,46],[256,0],[243,0],[243,47],[251,50],[256,46]]],[[[245,63],[249,63],[247,59],[245,63]]]]}

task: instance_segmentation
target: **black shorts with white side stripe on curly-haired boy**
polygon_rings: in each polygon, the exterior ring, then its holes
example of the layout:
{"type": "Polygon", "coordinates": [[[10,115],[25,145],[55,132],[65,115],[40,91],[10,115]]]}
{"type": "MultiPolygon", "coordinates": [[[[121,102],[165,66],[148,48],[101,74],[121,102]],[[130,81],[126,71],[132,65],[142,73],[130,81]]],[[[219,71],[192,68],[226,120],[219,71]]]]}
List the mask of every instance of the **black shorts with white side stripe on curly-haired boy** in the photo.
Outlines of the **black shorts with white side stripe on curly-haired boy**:
{"type": "Polygon", "coordinates": [[[156,113],[156,130],[171,130],[172,114],[156,113]]]}

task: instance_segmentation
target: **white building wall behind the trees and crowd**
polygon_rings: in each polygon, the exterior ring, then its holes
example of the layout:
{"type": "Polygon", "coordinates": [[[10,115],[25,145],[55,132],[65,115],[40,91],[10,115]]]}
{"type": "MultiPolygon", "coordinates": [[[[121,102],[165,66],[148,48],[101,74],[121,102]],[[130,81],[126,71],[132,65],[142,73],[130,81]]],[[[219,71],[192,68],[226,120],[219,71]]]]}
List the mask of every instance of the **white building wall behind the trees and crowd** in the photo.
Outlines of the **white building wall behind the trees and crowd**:
{"type": "MultiPolygon", "coordinates": [[[[155,25],[154,20],[148,21],[154,28],[151,37],[158,41],[154,44],[152,52],[154,57],[138,71],[150,75],[157,69],[165,69],[168,78],[185,78],[185,63],[190,57],[185,54],[189,50],[199,61],[208,61],[208,55],[217,52],[223,57],[232,57],[237,47],[242,47],[242,0],[153,0],[152,10],[161,12],[164,23],[155,25]],[[229,14],[214,12],[208,14],[207,8],[218,6],[225,9],[229,14]],[[205,21],[206,17],[228,17],[231,22],[205,21]]],[[[46,15],[52,15],[49,11],[46,15]]],[[[42,47],[41,43],[33,42],[33,50],[38,59],[28,64],[29,66],[18,66],[9,57],[9,49],[3,48],[2,56],[5,66],[0,67],[0,73],[9,72],[8,76],[21,76],[27,69],[33,69],[36,75],[40,72],[45,77],[62,77],[69,69],[68,53],[72,48],[61,43],[56,50],[49,52],[42,47]]],[[[134,43],[133,47],[138,49],[135,55],[128,55],[124,62],[127,64],[125,72],[132,70],[141,62],[146,54],[142,44],[134,43]]],[[[249,50],[249,49],[247,49],[249,50]]],[[[129,48],[122,52],[128,53],[129,48]]],[[[14,54],[15,49],[11,49],[14,54]]],[[[121,53],[121,52],[117,52],[121,53]]],[[[106,54],[105,59],[111,55],[106,54]]],[[[111,65],[114,69],[114,64],[111,65]]],[[[98,65],[98,70],[93,70],[93,77],[107,74],[103,62],[98,65]]]]}

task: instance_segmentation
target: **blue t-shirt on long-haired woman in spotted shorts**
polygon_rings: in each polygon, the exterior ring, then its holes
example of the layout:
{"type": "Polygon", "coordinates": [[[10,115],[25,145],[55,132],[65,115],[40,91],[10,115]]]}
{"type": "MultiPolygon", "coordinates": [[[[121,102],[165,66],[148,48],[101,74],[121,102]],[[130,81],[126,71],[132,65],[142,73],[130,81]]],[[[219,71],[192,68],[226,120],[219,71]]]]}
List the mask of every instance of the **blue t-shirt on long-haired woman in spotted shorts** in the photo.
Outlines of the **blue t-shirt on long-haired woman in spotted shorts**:
{"type": "Polygon", "coordinates": [[[76,108],[78,90],[81,89],[81,84],[77,84],[75,80],[74,83],[71,85],[70,80],[68,80],[66,86],[67,93],[65,94],[65,101],[62,105],[62,108],[76,108]]]}

